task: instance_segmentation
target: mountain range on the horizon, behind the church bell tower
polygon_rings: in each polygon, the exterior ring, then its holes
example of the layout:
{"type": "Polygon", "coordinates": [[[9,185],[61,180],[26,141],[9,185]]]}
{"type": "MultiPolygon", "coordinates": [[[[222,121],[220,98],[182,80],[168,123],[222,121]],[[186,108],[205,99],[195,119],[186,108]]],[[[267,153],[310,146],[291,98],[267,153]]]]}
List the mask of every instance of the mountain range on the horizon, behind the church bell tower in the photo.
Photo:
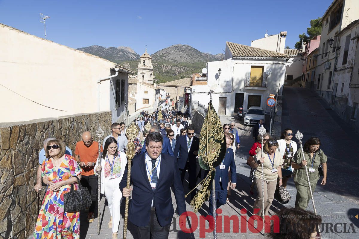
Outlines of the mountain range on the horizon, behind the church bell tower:
{"type": "MultiPolygon", "coordinates": [[[[140,55],[130,47],[89,46],[78,50],[102,57],[115,63],[128,63],[136,74],[140,55]]],[[[159,83],[190,77],[192,73],[200,72],[209,61],[220,61],[223,53],[209,54],[183,44],[163,48],[151,55],[155,78],[159,83]]]]}

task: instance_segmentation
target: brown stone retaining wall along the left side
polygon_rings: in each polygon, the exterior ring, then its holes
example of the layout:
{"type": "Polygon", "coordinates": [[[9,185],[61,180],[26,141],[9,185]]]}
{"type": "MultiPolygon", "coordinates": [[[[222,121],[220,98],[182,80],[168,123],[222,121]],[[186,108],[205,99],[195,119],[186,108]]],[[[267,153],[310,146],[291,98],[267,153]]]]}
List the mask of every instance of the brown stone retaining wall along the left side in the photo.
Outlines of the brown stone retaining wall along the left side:
{"type": "Polygon", "coordinates": [[[61,139],[74,151],[82,132],[95,135],[99,120],[107,136],[111,111],[0,124],[0,238],[23,239],[34,231],[45,193],[33,190],[43,140],[61,139]]]}

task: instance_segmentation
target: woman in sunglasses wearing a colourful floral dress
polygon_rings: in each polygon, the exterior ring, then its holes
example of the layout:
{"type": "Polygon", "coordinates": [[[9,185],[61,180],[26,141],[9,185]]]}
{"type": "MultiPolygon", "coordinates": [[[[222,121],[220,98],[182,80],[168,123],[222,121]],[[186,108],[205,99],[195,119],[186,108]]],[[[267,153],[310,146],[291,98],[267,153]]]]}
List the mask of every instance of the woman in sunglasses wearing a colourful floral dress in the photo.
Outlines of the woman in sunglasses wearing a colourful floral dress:
{"type": "Polygon", "coordinates": [[[42,179],[48,185],[39,216],[36,221],[34,239],[78,239],[80,229],[79,212],[65,212],[64,194],[71,184],[78,189],[77,176],[81,168],[75,158],[65,154],[66,146],[59,139],[46,145],[46,159],[42,163],[42,179]]]}

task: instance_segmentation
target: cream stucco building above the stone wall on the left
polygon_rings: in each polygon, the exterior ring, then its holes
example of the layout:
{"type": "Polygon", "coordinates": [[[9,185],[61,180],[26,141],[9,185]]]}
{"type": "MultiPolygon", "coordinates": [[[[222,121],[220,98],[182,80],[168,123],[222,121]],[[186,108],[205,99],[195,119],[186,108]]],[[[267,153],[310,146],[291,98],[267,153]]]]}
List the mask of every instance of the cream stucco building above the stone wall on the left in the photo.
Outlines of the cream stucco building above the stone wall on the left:
{"type": "MultiPolygon", "coordinates": [[[[0,122],[98,111],[97,80],[115,73],[110,71],[113,62],[2,24],[0,35],[0,82],[8,88],[0,86],[0,108],[6,112],[0,114],[0,122]]],[[[127,74],[119,74],[118,79],[127,84],[127,74]]],[[[112,91],[109,80],[101,83],[100,111],[114,110],[112,91]]]]}

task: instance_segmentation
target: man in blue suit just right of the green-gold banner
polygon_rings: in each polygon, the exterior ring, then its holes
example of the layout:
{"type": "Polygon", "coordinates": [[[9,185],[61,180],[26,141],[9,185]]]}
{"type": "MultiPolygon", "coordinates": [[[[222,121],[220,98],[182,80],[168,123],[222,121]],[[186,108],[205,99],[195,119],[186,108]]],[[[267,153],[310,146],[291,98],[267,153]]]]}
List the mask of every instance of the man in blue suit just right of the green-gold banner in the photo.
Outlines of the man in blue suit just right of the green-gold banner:
{"type": "MultiPolygon", "coordinates": [[[[218,207],[226,204],[227,201],[227,186],[228,186],[228,169],[230,168],[230,175],[232,176],[232,182],[230,188],[233,189],[236,187],[237,183],[237,170],[236,163],[234,163],[233,149],[228,148],[230,146],[230,137],[225,135],[225,140],[227,143],[227,152],[223,158],[223,161],[216,167],[216,176],[214,177],[216,184],[216,209],[218,207]]],[[[213,216],[212,211],[212,193],[209,196],[209,211],[208,214],[213,216]]]]}

